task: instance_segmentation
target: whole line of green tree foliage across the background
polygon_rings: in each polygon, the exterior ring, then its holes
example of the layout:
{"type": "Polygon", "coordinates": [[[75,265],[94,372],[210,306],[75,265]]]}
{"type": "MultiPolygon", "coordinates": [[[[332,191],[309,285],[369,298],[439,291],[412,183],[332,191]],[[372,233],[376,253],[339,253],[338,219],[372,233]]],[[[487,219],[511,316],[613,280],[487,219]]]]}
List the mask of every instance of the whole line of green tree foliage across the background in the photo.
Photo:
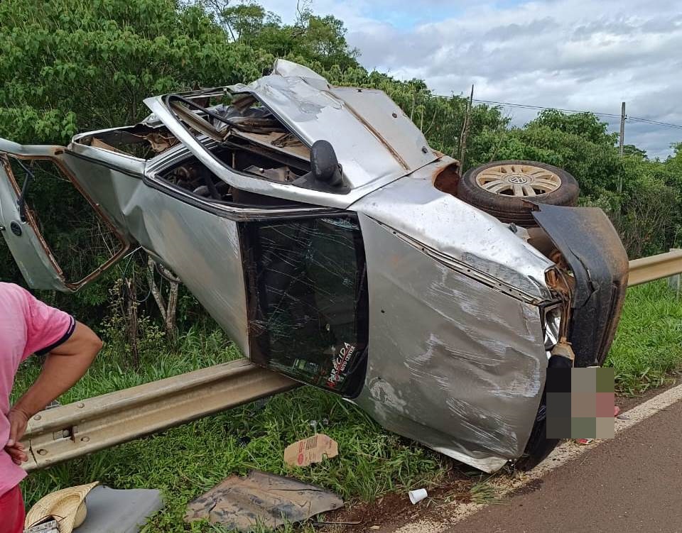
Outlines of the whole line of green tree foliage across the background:
{"type": "MultiPolygon", "coordinates": [[[[80,131],[139,121],[148,114],[146,97],[249,82],[285,57],[333,84],[384,90],[431,147],[458,156],[467,99],[437,96],[420,79],[365,70],[342,21],[301,5],[286,24],[249,0],[45,0],[39,9],[33,0],[2,0],[0,136],[65,144],[80,131]]],[[[610,214],[632,257],[679,246],[682,144],[659,161],[634,145],[621,158],[616,141],[590,113],[543,111],[519,128],[499,107],[476,105],[465,164],[526,159],[563,167],[578,180],[581,202],[610,214]]],[[[72,202],[64,187],[42,187],[54,205],[72,202]]],[[[77,231],[70,233],[70,243],[77,241],[77,231]]],[[[4,247],[0,262],[0,278],[18,280],[4,247]]],[[[107,295],[107,287],[91,289],[77,302],[102,312],[107,295]]]]}

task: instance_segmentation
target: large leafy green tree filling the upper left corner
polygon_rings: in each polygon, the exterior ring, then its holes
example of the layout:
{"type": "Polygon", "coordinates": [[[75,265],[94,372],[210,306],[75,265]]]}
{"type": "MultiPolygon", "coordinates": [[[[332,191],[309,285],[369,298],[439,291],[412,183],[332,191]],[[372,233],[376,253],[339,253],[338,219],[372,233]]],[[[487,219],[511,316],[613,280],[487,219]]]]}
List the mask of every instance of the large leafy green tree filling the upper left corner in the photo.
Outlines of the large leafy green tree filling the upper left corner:
{"type": "Polygon", "coordinates": [[[3,0],[0,136],[66,143],[139,121],[146,97],[253,79],[272,59],[173,0],[3,0]]]}

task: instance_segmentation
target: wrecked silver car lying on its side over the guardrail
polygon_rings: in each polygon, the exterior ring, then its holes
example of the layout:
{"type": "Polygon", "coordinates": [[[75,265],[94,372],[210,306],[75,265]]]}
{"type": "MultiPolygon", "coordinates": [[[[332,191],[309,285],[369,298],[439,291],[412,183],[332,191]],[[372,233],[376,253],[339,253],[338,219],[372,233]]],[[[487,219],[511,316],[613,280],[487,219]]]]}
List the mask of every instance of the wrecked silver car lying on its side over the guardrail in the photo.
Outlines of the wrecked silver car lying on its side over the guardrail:
{"type": "Polygon", "coordinates": [[[31,287],[77,290],[141,246],[251,361],[386,429],[487,472],[551,450],[546,369],[602,363],[627,285],[617,233],[572,207],[570,175],[462,176],[383,92],[284,60],[146,104],[65,148],[0,140],[1,233],[31,287]],[[26,201],[45,161],[114,235],[78,279],[26,201]]]}

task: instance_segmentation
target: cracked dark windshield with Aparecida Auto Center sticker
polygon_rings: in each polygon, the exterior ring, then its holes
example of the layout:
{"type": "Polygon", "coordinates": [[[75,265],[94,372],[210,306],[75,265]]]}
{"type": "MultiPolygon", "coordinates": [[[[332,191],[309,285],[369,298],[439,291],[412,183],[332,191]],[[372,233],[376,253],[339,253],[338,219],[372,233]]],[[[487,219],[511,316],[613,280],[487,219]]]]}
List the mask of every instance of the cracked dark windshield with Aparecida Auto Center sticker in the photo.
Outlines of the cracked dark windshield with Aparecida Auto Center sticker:
{"type": "Polygon", "coordinates": [[[254,362],[354,396],[364,381],[367,280],[352,216],[244,224],[254,362]]]}

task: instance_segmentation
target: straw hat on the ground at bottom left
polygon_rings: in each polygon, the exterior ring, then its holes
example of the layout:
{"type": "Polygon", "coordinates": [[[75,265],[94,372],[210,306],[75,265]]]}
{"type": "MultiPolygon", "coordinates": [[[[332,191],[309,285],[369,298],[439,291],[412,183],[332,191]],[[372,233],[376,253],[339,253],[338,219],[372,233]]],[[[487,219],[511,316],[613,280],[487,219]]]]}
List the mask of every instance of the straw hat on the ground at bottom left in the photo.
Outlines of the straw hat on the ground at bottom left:
{"type": "Polygon", "coordinates": [[[71,533],[85,520],[85,496],[98,484],[99,481],[95,481],[48,494],[28,511],[24,527],[29,529],[51,517],[59,524],[59,533],[71,533]]]}

